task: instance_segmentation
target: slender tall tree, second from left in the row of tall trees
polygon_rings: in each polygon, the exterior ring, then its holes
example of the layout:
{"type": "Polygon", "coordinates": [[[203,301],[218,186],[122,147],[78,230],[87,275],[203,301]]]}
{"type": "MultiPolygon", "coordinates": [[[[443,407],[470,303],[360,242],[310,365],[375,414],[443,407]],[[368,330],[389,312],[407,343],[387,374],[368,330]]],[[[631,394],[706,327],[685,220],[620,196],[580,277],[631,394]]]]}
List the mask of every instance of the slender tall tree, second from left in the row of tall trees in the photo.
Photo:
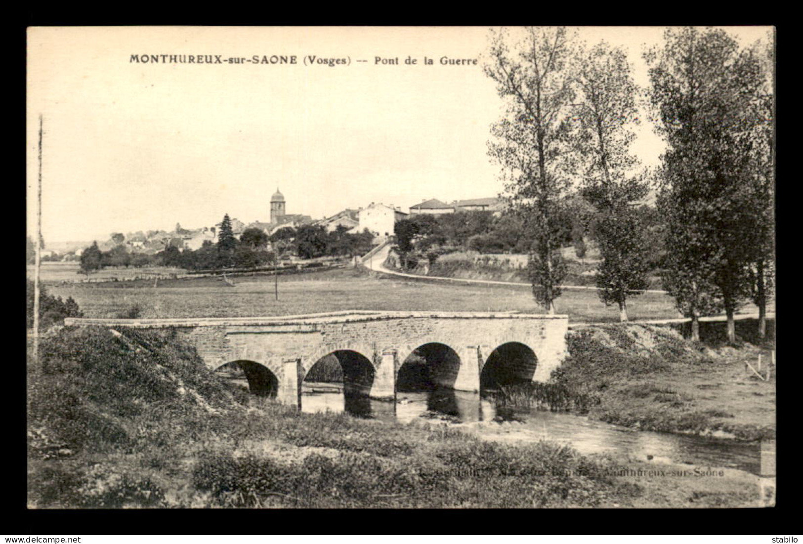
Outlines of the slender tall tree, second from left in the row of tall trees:
{"type": "MultiPolygon", "coordinates": [[[[624,51],[598,43],[583,55],[577,73],[579,125],[577,148],[585,165],[585,198],[596,214],[592,230],[600,248],[597,272],[599,296],[605,305],[617,304],[627,321],[627,298],[646,289],[646,244],[633,201],[646,196],[647,185],[629,171],[637,163],[630,153],[632,125],[638,109],[637,87],[624,51]]],[[[582,241],[575,229],[575,240],[582,241]]],[[[577,249],[577,242],[575,243],[577,249]]],[[[578,256],[585,255],[585,242],[578,256]]]]}

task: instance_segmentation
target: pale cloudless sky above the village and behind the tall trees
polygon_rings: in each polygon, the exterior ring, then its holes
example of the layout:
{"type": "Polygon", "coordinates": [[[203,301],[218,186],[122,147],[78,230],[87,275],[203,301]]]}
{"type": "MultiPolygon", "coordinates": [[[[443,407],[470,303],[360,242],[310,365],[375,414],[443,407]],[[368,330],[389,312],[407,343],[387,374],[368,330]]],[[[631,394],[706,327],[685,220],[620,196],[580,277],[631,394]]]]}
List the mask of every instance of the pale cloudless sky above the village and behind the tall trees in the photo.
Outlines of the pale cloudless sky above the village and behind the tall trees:
{"type": "MultiPolygon", "coordinates": [[[[724,28],[743,45],[769,30],[724,28]]],[[[663,30],[577,33],[623,47],[645,86],[642,51],[660,44],[663,30]]],[[[479,26],[31,28],[28,232],[40,115],[46,245],[212,226],[224,213],[269,221],[276,189],[287,213],[313,218],[372,202],[409,211],[430,198],[496,196],[503,182],[487,140],[502,102],[482,71],[487,36],[479,26]],[[132,55],[296,55],[297,63],[137,63],[132,55]],[[308,55],[344,63],[305,65],[308,55]],[[478,63],[442,65],[444,56],[478,63]]],[[[632,150],[658,164],[664,145],[646,112],[640,117],[632,150]]]]}

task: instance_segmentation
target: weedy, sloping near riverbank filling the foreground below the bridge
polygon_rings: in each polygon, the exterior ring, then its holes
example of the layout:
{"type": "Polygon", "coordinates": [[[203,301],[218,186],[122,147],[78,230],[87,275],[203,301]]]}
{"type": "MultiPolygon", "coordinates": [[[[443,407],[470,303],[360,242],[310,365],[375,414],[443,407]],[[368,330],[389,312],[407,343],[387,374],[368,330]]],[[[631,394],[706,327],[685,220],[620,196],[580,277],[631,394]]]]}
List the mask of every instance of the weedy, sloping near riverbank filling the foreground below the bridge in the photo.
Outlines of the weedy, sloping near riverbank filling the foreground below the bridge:
{"type": "Polygon", "coordinates": [[[683,507],[758,500],[759,478],[747,473],[701,469],[671,477],[662,469],[656,476],[647,461],[583,456],[548,441],[500,444],[445,424],[299,413],[228,388],[169,332],[122,332],[66,328],[43,339],[39,364],[29,360],[31,508],[683,507]],[[640,481],[642,475],[649,479],[640,481]]]}

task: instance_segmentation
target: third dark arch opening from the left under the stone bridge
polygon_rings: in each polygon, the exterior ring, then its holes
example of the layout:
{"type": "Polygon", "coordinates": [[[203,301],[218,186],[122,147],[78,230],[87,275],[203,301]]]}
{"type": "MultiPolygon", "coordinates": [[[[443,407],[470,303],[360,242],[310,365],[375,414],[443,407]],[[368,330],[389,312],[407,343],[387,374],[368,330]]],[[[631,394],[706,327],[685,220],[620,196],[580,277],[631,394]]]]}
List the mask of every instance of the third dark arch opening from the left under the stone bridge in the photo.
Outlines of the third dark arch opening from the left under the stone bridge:
{"type": "Polygon", "coordinates": [[[396,389],[400,392],[454,389],[461,359],[446,343],[427,342],[399,359],[396,389]]]}

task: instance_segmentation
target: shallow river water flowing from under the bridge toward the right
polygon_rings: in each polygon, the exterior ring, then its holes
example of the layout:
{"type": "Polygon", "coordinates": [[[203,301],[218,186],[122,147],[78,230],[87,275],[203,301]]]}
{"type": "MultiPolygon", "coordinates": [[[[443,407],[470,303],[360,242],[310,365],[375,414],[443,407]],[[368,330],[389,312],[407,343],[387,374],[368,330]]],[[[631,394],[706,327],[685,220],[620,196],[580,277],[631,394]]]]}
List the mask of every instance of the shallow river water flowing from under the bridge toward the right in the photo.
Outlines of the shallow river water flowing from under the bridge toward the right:
{"type": "Polygon", "coordinates": [[[491,397],[445,388],[398,392],[396,403],[344,396],[342,389],[312,392],[312,388],[306,388],[302,411],[345,411],[357,417],[400,423],[418,418],[475,423],[468,428],[489,440],[552,440],[569,444],[583,454],[626,454],[639,461],[728,467],[752,473],[760,469],[760,445],[757,443],[636,432],[569,413],[497,407],[491,397]]]}

